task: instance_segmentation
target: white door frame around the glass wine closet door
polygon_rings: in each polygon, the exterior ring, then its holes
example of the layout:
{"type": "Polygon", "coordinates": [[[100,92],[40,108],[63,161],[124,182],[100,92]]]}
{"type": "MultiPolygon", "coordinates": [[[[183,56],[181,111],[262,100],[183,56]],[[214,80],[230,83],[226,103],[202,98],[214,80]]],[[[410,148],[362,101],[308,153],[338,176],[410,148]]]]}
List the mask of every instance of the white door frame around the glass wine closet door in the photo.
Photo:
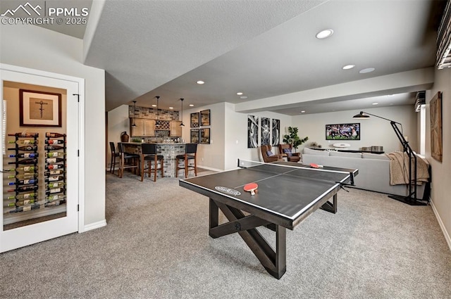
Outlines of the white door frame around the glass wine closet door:
{"type": "MultiPolygon", "coordinates": [[[[45,72],[42,70],[34,70],[30,68],[18,67],[16,65],[7,65],[0,63],[0,70],[7,70],[16,72],[20,75],[34,75],[41,77],[42,80],[49,79],[61,79],[69,82],[75,82],[78,84],[78,232],[85,231],[85,79],[79,77],[72,77],[68,75],[61,75],[53,72],[45,72]]],[[[0,78],[0,94],[3,98],[3,79],[0,78]]],[[[75,96],[75,94],[68,94],[69,96],[75,96]]],[[[3,144],[1,146],[4,146],[3,144]]],[[[0,157],[2,160],[3,158],[0,157]]],[[[1,216],[3,221],[3,216],[1,216]]],[[[3,223],[1,223],[3,225],[3,223]]]]}

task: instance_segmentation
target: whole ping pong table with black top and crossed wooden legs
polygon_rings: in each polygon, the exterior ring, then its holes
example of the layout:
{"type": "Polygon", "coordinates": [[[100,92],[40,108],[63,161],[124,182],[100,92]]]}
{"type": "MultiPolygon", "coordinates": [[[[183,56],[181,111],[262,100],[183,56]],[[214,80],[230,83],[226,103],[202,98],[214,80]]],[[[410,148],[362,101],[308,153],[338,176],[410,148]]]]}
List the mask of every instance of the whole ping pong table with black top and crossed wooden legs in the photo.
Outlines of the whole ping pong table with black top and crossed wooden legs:
{"type": "Polygon", "coordinates": [[[299,163],[252,163],[238,160],[237,170],[180,179],[179,185],[209,199],[209,236],[238,233],[266,271],[280,279],[286,272],[286,229],[294,229],[321,208],[337,212],[337,193],[354,184],[358,170],[311,168],[299,163]],[[255,195],[243,186],[259,185],[255,195]],[[332,198],[332,202],[329,199],[332,198]],[[221,210],[229,222],[219,224],[221,210]],[[276,231],[274,250],[257,227],[276,231]]]}

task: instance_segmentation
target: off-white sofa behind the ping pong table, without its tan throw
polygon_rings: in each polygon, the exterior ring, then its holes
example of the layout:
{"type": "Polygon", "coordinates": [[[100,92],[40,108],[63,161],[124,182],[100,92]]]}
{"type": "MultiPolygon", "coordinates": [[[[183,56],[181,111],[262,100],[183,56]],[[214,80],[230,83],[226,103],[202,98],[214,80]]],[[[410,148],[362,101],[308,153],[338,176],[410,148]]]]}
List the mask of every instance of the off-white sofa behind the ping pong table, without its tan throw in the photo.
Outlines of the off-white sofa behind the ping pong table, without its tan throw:
{"type": "MultiPolygon", "coordinates": [[[[390,185],[390,159],[384,154],[317,151],[304,148],[302,163],[357,168],[356,188],[400,196],[409,195],[408,185],[390,185]]],[[[423,199],[426,184],[416,187],[416,198],[423,199]]]]}

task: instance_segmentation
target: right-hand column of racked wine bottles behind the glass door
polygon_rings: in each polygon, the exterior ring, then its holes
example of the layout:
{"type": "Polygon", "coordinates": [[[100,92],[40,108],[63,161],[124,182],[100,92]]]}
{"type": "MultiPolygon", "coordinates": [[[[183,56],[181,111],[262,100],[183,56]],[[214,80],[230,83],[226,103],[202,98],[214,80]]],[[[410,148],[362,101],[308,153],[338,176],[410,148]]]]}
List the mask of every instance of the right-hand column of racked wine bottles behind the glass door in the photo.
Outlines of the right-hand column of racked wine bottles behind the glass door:
{"type": "Polygon", "coordinates": [[[46,132],[45,135],[45,205],[61,205],[66,203],[66,134],[46,132]]]}

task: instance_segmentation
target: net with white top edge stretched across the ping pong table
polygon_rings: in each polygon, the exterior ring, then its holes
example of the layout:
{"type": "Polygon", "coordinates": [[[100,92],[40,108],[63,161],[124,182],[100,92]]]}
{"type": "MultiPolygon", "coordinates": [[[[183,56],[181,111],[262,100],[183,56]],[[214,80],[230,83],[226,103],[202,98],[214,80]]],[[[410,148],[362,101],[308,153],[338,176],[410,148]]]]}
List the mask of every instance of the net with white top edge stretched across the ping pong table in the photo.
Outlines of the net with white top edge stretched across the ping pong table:
{"type": "Polygon", "coordinates": [[[339,167],[314,168],[300,163],[287,163],[280,161],[263,163],[244,159],[238,159],[237,166],[258,172],[265,172],[268,174],[268,177],[290,175],[293,177],[298,177],[299,179],[310,181],[333,182],[340,184],[340,186],[354,186],[354,172],[356,171],[339,167]]]}

